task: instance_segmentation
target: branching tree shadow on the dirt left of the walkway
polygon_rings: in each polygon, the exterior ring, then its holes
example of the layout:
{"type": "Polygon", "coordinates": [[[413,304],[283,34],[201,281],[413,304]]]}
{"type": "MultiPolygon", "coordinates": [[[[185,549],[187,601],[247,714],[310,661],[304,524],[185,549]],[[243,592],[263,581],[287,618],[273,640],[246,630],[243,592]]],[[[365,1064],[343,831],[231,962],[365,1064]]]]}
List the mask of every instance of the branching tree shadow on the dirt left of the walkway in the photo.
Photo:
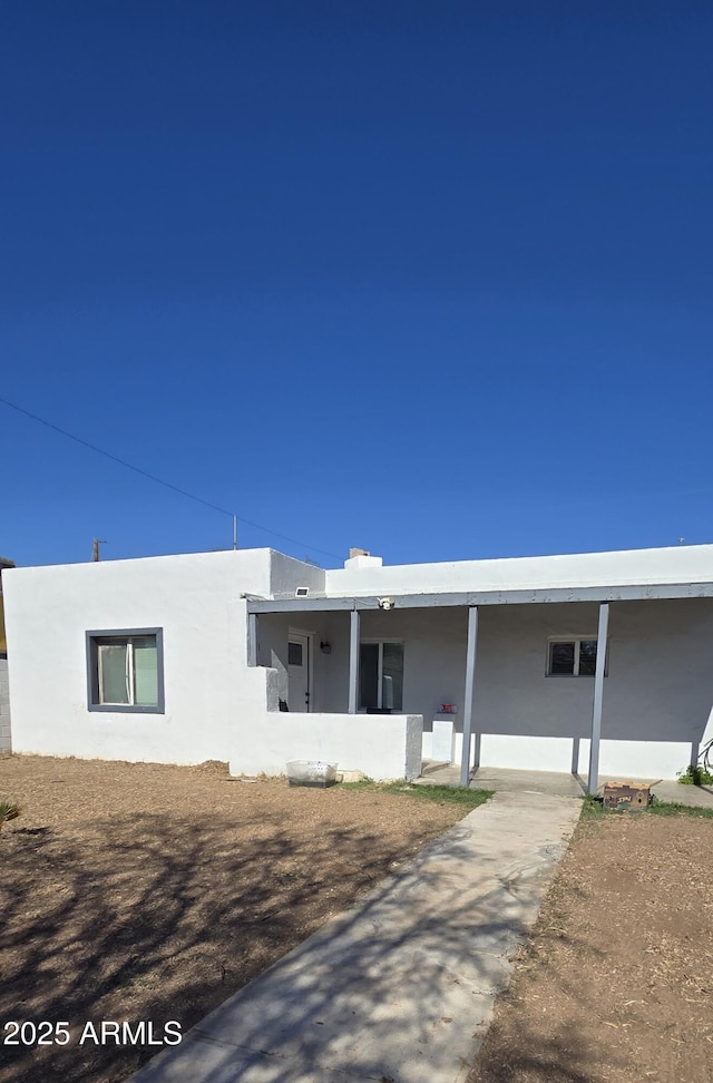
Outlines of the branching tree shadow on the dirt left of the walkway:
{"type": "MultiPolygon", "coordinates": [[[[86,1022],[152,1021],[183,1033],[417,849],[322,828],[295,841],[260,810],[235,823],[115,817],[3,836],[0,1018],[66,1021],[65,1047],[0,1046],[2,1083],[124,1079],[156,1047],[79,1045],[86,1022]],[[254,840],[245,840],[254,828],[254,840]]],[[[30,1032],[26,1032],[31,1037],[30,1032]]],[[[7,1036],[7,1035],[6,1035],[7,1036]]]]}

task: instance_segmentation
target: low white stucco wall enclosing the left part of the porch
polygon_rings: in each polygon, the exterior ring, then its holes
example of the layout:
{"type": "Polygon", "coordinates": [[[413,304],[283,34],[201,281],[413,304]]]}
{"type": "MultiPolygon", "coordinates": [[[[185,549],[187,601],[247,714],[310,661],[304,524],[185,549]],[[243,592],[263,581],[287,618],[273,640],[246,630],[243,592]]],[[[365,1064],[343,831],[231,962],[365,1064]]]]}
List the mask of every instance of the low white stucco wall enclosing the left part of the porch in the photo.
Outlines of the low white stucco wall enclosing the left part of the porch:
{"type": "Polygon", "coordinates": [[[232,774],[285,774],[289,760],[324,760],[369,778],[421,773],[423,719],[418,714],[266,712],[245,726],[231,754],[232,774]]]}

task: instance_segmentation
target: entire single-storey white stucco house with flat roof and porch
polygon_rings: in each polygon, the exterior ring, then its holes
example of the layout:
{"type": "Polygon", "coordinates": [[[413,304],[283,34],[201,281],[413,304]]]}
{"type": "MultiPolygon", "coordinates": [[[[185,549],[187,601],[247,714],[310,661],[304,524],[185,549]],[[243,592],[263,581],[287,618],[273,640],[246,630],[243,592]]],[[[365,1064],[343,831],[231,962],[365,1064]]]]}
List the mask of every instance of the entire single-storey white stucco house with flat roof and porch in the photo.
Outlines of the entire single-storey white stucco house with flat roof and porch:
{"type": "Polygon", "coordinates": [[[271,549],[10,568],[16,752],[374,779],[422,757],[674,778],[713,735],[713,545],[324,570],[271,549]]]}

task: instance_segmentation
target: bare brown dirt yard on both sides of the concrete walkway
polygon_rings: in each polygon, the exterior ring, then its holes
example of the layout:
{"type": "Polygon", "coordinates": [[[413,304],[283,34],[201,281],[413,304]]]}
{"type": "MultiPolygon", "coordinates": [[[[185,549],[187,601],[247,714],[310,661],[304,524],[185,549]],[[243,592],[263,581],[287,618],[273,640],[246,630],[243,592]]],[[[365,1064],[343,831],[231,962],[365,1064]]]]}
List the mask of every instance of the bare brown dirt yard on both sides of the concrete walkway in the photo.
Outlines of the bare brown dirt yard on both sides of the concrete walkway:
{"type": "MultiPolygon", "coordinates": [[[[118,1083],[157,1047],[85,1024],[204,1014],[467,809],[231,780],[224,765],[0,759],[0,1083],[118,1083]]],[[[711,1083],[713,819],[584,820],[469,1083],[711,1083]]],[[[147,1033],[147,1032],[146,1032],[147,1033]]]]}

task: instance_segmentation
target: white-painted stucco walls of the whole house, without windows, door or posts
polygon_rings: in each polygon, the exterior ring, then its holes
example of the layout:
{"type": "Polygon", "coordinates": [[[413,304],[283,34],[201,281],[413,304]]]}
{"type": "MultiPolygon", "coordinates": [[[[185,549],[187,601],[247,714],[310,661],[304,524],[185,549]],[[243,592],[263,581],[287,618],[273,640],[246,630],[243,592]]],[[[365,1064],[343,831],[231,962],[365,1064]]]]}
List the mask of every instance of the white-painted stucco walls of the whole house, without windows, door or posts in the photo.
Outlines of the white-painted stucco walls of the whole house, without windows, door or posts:
{"type": "MultiPolygon", "coordinates": [[[[310,609],[309,597],[711,580],[713,546],[399,567],[359,556],[328,572],[268,549],[10,569],[3,586],[13,747],[229,760],[248,773],[326,759],[372,778],[410,777],[418,773],[421,716],[429,755],[441,703],[458,705],[446,720],[460,758],[467,608],[362,612],[362,640],[403,643],[403,713],[350,716],[350,612],[310,609]],[[303,609],[258,616],[258,665],[248,666],[245,596],[294,598],[297,587],[310,592],[303,609]],[[165,713],[89,711],[86,632],[141,627],[163,628],[165,713]],[[277,711],[279,700],[290,699],[291,631],[312,637],[314,713],[292,703],[277,711]]],[[[594,603],[480,607],[473,729],[484,765],[586,773],[594,681],[548,677],[547,643],[595,636],[597,615],[594,603]]],[[[712,656],[713,599],[612,603],[602,773],[672,778],[691,761],[713,735],[712,656]]]]}

